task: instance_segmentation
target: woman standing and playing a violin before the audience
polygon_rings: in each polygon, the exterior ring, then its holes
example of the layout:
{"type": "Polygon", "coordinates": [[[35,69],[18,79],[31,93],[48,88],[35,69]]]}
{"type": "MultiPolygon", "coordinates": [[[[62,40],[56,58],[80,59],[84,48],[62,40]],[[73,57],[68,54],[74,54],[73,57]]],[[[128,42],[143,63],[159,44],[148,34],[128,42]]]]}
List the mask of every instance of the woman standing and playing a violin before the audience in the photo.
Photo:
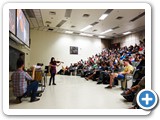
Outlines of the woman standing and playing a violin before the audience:
{"type": "Polygon", "coordinates": [[[49,80],[49,86],[51,85],[52,79],[53,79],[52,85],[56,85],[55,84],[56,66],[59,66],[61,63],[63,63],[63,62],[61,62],[61,61],[55,61],[54,57],[51,58],[51,61],[49,63],[50,74],[51,74],[51,77],[50,77],[50,80],[49,80]]]}

